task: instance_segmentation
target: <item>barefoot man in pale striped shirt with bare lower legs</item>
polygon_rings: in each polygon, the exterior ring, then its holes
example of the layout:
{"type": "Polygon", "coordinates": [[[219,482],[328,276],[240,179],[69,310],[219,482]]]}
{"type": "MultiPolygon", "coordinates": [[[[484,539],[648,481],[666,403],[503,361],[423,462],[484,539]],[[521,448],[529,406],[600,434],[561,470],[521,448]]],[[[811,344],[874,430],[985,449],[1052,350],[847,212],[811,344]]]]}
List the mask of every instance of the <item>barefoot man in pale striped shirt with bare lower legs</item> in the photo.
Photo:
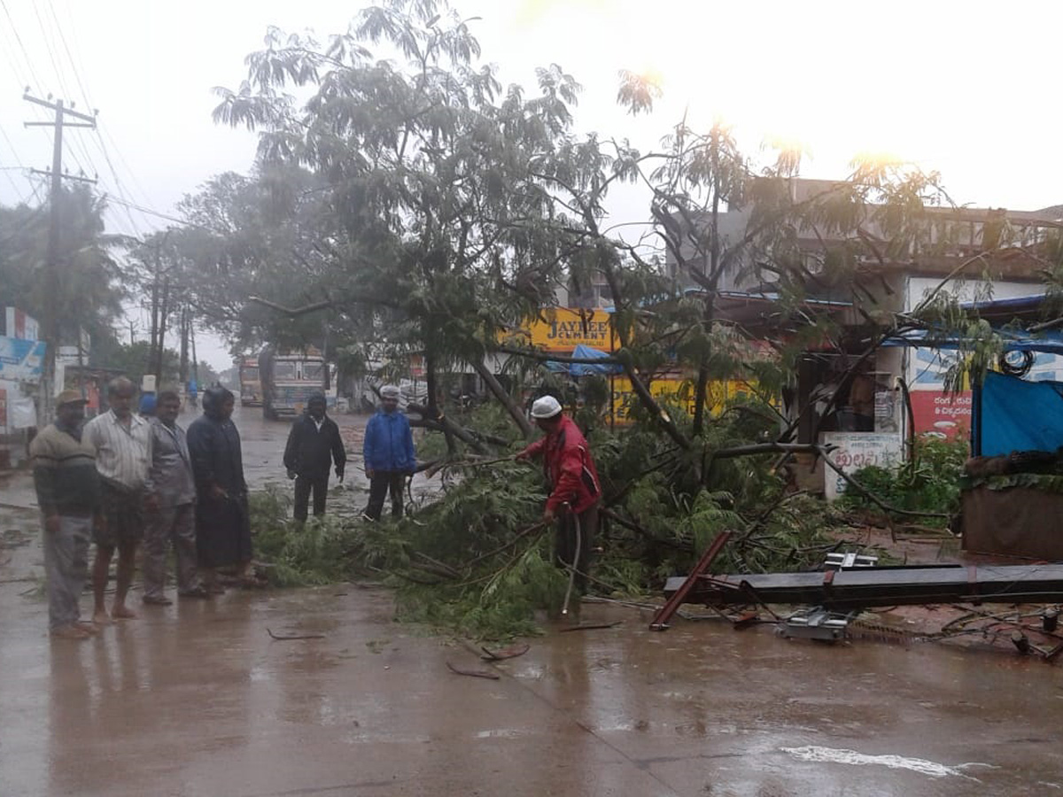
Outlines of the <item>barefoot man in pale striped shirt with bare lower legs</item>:
{"type": "Polygon", "coordinates": [[[135,617],[125,606],[125,595],[133,582],[136,547],[144,538],[145,481],[151,464],[150,427],[135,414],[136,389],[124,377],[107,386],[111,409],[85,424],[84,437],[96,446],[96,470],[100,474],[102,522],[94,530],[96,562],[92,564],[92,594],[96,609],[92,622],[103,625],[135,617]],[[115,601],[107,614],[103,595],[107,589],[111,559],[118,549],[115,601]]]}

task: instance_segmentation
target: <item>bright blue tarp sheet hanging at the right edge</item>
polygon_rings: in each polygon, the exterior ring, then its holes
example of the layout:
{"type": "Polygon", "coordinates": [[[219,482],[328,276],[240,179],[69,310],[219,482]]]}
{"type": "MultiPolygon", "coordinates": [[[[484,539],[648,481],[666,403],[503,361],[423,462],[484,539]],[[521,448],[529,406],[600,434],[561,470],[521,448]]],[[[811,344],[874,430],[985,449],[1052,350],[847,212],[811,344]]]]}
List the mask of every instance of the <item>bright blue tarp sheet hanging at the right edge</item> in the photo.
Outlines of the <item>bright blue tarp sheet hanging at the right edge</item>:
{"type": "Polygon", "coordinates": [[[1063,383],[990,371],[975,391],[974,411],[973,447],[983,457],[1063,445],[1063,383]]]}

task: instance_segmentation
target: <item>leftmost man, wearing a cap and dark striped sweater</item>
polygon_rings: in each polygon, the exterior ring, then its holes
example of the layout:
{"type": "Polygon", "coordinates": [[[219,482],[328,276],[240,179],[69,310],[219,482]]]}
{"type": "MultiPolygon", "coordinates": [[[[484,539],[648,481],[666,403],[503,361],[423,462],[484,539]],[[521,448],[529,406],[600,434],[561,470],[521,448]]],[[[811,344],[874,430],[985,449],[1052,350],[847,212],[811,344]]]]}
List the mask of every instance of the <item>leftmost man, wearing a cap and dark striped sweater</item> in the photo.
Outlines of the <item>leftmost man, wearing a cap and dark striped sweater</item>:
{"type": "Polygon", "coordinates": [[[88,540],[100,509],[96,448],[82,439],[85,400],[64,390],[55,400],[55,423],[30,443],[33,484],[44,525],[48,623],[53,637],[84,640],[96,633],[81,621],[79,598],[88,576],[88,540]]]}

